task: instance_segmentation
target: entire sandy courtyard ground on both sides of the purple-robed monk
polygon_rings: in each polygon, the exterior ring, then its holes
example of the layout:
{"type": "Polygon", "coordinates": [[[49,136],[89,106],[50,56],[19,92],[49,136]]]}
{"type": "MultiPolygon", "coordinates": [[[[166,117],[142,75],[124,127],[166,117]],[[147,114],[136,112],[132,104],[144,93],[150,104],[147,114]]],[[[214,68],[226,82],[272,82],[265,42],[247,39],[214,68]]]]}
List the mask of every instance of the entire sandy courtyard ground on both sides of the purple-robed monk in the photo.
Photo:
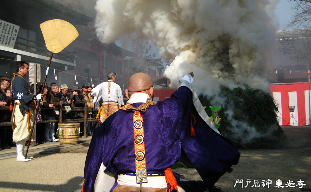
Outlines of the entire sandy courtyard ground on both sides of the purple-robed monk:
{"type": "MultiPolygon", "coordinates": [[[[278,149],[239,150],[241,158],[232,173],[226,173],[216,183],[224,192],[270,192],[301,191],[299,186],[275,188],[280,179],[285,186],[289,180],[297,185],[300,179],[306,188],[311,188],[311,127],[284,126],[288,143],[278,149]],[[236,180],[243,179],[235,187],[236,180]],[[245,188],[246,180],[251,183],[245,188]],[[272,180],[272,185],[251,187],[254,180],[272,180]]],[[[30,162],[16,162],[16,148],[0,151],[0,192],[80,192],[83,183],[83,169],[91,137],[79,138],[74,146],[62,146],[51,142],[30,147],[34,159],[30,162]]],[[[195,169],[174,169],[186,180],[201,180],[195,169]]]]}

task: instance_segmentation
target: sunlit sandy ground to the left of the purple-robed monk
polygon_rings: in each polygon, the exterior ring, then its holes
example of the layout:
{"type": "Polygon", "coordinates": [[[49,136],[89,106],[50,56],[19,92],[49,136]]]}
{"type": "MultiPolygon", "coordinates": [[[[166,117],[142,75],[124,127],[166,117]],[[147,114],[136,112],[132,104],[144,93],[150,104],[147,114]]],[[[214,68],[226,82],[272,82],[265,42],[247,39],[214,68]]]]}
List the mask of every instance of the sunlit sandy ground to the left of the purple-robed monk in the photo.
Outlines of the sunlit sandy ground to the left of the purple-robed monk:
{"type": "Polygon", "coordinates": [[[30,147],[34,159],[29,162],[16,162],[16,147],[0,151],[0,191],[72,192],[81,188],[90,141],[87,137],[73,146],[48,142],[30,147]]]}

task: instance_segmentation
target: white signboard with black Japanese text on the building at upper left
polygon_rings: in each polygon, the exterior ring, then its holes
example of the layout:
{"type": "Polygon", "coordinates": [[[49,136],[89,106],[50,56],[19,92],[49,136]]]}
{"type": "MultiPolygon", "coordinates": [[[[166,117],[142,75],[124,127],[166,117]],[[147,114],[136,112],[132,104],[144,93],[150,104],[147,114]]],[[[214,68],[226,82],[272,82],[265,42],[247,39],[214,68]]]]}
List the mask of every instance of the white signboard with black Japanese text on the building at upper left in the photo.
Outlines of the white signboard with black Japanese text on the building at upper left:
{"type": "Polygon", "coordinates": [[[0,20],[0,45],[14,48],[20,26],[0,20]]]}

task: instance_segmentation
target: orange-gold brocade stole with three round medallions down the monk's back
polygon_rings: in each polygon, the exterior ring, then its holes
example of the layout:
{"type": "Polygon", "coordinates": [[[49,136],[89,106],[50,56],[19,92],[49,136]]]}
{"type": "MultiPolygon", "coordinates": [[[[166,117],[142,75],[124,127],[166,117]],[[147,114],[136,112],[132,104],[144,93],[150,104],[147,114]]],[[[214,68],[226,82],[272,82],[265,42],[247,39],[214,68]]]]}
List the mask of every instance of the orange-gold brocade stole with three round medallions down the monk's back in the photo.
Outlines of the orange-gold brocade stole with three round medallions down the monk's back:
{"type": "Polygon", "coordinates": [[[135,152],[135,169],[136,182],[147,182],[147,167],[145,155],[145,135],[144,135],[144,120],[140,111],[146,112],[150,105],[155,105],[156,102],[147,100],[146,103],[139,107],[133,107],[130,104],[124,105],[121,109],[124,111],[133,111],[133,131],[134,131],[134,152],[135,152]]]}

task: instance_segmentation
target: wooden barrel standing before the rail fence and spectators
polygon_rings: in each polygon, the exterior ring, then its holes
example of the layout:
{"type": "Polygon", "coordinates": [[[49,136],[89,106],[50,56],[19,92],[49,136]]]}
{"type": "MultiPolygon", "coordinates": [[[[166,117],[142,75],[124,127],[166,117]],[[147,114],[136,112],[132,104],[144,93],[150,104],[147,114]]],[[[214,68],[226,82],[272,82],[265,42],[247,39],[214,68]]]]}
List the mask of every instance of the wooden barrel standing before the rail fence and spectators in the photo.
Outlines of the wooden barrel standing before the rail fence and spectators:
{"type": "Polygon", "coordinates": [[[76,145],[79,142],[80,123],[59,123],[58,138],[61,145],[76,145]]]}

